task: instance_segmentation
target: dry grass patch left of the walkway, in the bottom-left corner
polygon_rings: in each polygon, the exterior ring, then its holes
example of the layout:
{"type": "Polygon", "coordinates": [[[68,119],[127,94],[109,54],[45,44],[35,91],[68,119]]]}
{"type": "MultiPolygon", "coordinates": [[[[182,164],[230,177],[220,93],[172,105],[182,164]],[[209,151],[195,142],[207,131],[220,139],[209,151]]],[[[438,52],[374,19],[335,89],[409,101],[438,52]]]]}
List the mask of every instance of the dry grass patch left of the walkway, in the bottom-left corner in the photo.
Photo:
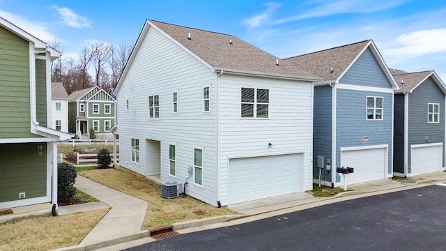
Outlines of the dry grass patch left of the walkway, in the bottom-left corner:
{"type": "Polygon", "coordinates": [[[51,250],[79,244],[109,209],[11,220],[0,225],[0,250],[51,250]]]}

